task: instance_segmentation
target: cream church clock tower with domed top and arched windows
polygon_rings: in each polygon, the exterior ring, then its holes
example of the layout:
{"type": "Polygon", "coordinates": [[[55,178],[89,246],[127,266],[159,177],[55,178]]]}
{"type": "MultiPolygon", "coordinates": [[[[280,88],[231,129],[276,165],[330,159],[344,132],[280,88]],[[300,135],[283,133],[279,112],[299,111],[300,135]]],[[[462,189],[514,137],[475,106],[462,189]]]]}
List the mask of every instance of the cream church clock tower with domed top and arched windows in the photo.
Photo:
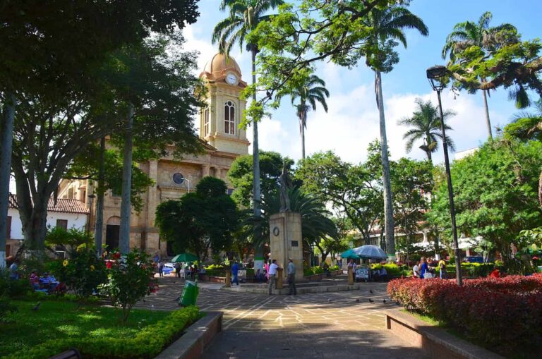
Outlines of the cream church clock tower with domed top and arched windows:
{"type": "Polygon", "coordinates": [[[207,106],[200,113],[200,138],[222,152],[248,154],[246,130],[239,128],[246,102],[239,98],[246,83],[233,57],[216,54],[200,78],[207,86],[207,106]]]}

